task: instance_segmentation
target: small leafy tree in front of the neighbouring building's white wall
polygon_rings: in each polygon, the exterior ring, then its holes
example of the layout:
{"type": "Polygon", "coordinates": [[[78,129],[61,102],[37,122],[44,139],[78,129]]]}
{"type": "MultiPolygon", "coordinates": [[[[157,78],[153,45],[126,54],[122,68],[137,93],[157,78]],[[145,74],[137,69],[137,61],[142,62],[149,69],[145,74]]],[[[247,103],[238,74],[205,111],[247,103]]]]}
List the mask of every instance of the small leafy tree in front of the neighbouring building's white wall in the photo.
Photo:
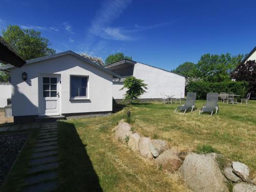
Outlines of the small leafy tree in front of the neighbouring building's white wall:
{"type": "Polygon", "coordinates": [[[145,93],[147,89],[147,84],[143,83],[142,79],[136,79],[135,77],[127,77],[123,81],[123,87],[128,90],[124,94],[124,100],[131,100],[131,103],[134,104],[139,102],[139,96],[145,93]]]}

